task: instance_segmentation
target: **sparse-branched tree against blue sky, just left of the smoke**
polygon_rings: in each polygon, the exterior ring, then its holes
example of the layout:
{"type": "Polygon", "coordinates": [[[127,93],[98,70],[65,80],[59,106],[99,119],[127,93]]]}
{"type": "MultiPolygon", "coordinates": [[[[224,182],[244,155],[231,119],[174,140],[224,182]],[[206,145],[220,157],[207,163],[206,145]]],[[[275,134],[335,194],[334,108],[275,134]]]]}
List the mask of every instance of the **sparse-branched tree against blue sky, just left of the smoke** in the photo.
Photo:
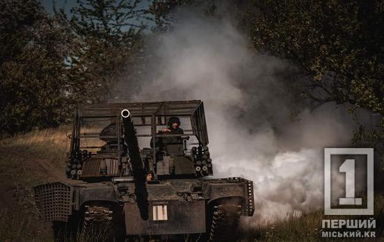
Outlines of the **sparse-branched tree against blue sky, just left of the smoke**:
{"type": "MultiPolygon", "coordinates": [[[[83,103],[107,102],[111,90],[138,63],[145,22],[150,21],[141,1],[78,1],[70,26],[77,46],[68,58],[67,78],[75,85],[74,99],[83,103]],[[129,69],[129,70],[128,70],[129,69]]],[[[134,77],[126,81],[134,82],[134,77]]]]}

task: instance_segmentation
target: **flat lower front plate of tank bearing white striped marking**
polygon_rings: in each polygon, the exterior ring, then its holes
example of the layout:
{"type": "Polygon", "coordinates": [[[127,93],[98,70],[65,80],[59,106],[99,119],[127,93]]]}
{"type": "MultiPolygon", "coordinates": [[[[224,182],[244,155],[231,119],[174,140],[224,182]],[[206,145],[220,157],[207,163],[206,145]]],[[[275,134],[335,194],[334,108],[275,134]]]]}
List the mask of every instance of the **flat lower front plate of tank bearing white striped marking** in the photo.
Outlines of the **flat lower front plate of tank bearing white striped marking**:
{"type": "Polygon", "coordinates": [[[143,220],[135,203],[125,203],[125,229],[133,234],[205,233],[205,201],[166,201],[148,204],[148,220],[143,220]]]}

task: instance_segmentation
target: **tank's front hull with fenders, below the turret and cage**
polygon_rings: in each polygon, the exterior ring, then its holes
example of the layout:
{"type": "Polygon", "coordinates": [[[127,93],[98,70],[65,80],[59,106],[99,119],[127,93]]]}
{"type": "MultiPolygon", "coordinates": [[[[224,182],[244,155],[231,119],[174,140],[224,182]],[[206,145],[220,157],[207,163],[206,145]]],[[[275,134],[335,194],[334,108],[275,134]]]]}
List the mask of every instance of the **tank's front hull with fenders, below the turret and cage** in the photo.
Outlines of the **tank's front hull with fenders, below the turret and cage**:
{"type": "Polygon", "coordinates": [[[120,208],[113,216],[123,217],[126,235],[205,233],[209,229],[210,211],[223,200],[239,207],[239,215],[252,216],[252,181],[239,177],[170,179],[151,181],[145,191],[137,191],[133,181],[35,186],[35,202],[45,220],[67,222],[84,207],[110,204],[111,208],[120,208]],[[138,202],[143,194],[144,204],[138,202]]]}

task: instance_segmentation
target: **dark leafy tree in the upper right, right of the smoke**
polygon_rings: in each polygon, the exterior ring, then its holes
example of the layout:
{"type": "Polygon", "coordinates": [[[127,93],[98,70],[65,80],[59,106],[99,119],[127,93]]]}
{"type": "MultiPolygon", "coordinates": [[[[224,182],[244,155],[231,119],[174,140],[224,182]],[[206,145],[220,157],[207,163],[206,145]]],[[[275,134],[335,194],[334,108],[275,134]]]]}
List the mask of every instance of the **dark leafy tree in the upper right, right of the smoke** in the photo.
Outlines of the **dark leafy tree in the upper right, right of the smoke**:
{"type": "MultiPolygon", "coordinates": [[[[305,79],[293,83],[299,100],[384,115],[384,1],[255,0],[251,6],[243,24],[253,48],[301,67],[305,79]]],[[[354,142],[377,145],[383,125],[376,131],[361,126],[354,142]]]]}

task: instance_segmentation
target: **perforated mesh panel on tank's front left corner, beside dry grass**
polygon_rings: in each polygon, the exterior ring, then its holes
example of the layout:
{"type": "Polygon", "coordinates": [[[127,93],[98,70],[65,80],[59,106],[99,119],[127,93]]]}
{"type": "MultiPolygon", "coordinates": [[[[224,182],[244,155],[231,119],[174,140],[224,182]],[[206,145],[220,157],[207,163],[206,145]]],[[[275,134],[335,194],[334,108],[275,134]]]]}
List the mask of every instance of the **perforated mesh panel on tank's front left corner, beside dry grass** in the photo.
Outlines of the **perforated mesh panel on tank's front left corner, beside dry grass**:
{"type": "Polygon", "coordinates": [[[35,202],[45,221],[67,222],[72,214],[72,186],[54,182],[34,187],[35,202]]]}

